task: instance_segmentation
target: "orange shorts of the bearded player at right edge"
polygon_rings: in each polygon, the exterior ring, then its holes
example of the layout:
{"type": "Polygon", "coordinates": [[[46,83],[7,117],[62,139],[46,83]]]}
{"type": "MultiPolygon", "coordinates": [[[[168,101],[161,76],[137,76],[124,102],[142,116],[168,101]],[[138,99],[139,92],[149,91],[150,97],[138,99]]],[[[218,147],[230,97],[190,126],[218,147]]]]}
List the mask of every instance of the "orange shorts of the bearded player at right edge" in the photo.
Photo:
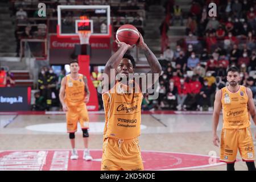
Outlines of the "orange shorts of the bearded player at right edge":
{"type": "Polygon", "coordinates": [[[251,135],[250,127],[245,129],[222,129],[220,161],[235,162],[237,150],[239,150],[243,161],[254,161],[253,135],[251,135]]]}

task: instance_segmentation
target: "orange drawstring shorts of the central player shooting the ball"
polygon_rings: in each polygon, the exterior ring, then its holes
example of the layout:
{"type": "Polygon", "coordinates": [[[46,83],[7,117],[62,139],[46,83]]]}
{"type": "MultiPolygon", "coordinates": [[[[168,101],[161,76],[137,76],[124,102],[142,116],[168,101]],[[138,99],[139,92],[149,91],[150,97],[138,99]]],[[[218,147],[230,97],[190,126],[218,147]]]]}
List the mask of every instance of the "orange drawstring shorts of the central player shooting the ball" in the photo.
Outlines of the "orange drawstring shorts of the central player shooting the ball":
{"type": "Polygon", "coordinates": [[[103,143],[101,160],[102,171],[139,171],[143,170],[141,149],[138,138],[106,138],[103,143]]]}

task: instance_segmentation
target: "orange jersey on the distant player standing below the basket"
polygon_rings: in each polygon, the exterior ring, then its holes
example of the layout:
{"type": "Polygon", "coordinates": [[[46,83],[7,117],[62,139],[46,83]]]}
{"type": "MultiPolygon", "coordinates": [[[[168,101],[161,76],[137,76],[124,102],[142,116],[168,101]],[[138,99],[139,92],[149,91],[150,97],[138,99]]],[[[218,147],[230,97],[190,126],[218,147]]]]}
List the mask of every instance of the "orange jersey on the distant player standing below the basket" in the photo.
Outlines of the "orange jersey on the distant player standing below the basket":
{"type": "Polygon", "coordinates": [[[84,106],[85,84],[83,75],[79,74],[79,78],[74,80],[71,75],[67,75],[67,83],[65,86],[65,103],[68,107],[84,106]]]}

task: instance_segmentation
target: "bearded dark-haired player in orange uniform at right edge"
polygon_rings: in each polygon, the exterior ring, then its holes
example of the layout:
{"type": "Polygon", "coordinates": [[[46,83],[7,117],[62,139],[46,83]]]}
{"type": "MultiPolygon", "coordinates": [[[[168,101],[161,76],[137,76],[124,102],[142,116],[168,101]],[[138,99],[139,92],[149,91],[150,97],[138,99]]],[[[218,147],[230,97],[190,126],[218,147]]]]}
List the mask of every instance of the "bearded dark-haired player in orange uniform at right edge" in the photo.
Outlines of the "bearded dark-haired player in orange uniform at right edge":
{"type": "Polygon", "coordinates": [[[222,108],[223,127],[220,160],[227,163],[228,171],[234,171],[237,150],[239,150],[248,170],[255,171],[254,144],[250,131],[250,115],[256,124],[253,93],[249,88],[239,85],[240,73],[238,68],[230,67],[227,73],[229,85],[218,90],[214,101],[213,144],[218,147],[218,143],[220,143],[216,132],[222,108]]]}

